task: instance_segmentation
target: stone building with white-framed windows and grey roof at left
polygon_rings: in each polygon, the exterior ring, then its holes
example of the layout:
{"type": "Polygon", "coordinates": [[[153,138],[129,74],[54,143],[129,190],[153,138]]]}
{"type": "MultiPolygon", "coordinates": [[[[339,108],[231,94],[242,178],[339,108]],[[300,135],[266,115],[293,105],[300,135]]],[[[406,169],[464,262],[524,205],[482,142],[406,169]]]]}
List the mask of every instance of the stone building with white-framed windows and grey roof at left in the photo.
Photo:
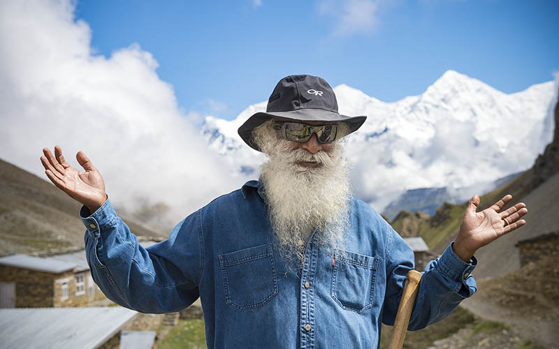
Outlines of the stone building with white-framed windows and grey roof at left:
{"type": "Polygon", "coordinates": [[[46,258],[0,257],[0,308],[86,306],[106,299],[94,283],[85,254],[46,258]]]}

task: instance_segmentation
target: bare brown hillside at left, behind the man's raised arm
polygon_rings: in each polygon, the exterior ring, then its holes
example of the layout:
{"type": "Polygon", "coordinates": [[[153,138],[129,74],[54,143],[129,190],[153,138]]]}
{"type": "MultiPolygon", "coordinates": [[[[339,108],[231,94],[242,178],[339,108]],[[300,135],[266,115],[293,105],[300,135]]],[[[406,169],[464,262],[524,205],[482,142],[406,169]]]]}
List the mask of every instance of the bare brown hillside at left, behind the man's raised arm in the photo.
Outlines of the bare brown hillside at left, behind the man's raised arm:
{"type": "MultiPolygon", "coordinates": [[[[82,247],[80,207],[49,182],[0,159],[0,255],[82,247]]],[[[126,223],[136,235],[164,237],[126,223]]]]}

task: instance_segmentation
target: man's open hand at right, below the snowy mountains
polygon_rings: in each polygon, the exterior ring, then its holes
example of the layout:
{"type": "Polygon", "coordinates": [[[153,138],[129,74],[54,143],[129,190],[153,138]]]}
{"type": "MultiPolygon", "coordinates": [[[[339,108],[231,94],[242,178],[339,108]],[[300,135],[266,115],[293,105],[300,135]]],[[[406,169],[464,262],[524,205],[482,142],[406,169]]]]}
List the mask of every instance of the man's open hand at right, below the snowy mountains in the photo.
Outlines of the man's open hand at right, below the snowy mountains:
{"type": "Polygon", "coordinates": [[[511,199],[512,195],[504,195],[504,198],[495,202],[493,206],[477,212],[479,196],[474,195],[468,202],[460,224],[460,232],[452,246],[458,257],[465,262],[470,262],[478,248],[526,224],[526,221],[520,219],[528,213],[523,202],[500,212],[511,199]]]}

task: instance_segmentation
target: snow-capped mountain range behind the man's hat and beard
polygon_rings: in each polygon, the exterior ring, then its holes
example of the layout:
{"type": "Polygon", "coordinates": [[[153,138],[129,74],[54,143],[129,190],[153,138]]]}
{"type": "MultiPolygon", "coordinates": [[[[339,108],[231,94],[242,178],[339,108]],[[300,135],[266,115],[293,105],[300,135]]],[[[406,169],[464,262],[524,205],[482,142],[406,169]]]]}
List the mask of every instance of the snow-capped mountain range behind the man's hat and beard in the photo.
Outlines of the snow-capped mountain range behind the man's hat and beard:
{"type": "MultiPolygon", "coordinates": [[[[550,81],[504,94],[453,70],[423,94],[394,103],[334,87],[341,114],[368,116],[346,140],[354,193],[382,211],[414,188],[488,190],[496,179],[529,168],[551,141],[557,87],[550,81]]],[[[266,101],[231,121],[207,117],[201,128],[237,176],[256,177],[263,158],[237,128],[265,110],[266,101]]]]}

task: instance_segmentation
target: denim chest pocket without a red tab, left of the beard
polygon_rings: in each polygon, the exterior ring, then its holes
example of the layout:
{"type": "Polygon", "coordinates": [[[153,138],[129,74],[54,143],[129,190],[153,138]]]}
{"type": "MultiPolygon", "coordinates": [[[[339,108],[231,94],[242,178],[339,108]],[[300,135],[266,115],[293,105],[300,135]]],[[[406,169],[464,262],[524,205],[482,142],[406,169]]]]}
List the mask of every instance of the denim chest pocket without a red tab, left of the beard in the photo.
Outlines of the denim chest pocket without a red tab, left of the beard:
{"type": "Polygon", "coordinates": [[[271,244],[219,255],[226,304],[247,310],[263,306],[277,295],[271,244]]]}

